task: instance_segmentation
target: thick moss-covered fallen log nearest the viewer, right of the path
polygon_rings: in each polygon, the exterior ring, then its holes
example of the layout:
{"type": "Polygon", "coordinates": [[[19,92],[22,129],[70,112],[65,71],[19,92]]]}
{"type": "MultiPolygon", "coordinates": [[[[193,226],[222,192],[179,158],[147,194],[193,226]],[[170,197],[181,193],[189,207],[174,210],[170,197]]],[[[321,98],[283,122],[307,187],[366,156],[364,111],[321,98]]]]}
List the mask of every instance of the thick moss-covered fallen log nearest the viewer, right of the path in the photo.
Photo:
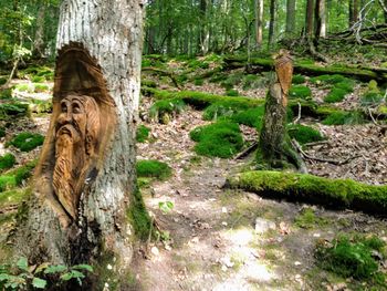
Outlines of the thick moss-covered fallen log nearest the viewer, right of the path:
{"type": "Polygon", "coordinates": [[[282,172],[247,172],[229,178],[231,187],[263,197],[351,208],[373,215],[387,214],[387,186],[370,186],[349,179],[327,179],[282,172]]]}

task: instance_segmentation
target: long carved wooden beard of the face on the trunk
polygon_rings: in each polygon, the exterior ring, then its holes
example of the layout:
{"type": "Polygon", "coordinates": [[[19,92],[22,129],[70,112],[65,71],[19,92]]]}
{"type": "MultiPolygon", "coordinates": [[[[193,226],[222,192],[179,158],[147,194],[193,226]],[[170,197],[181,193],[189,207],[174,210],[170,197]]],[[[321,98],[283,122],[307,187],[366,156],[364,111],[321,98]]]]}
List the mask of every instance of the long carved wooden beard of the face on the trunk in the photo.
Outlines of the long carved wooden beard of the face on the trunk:
{"type": "Polygon", "coordinates": [[[85,163],[85,148],[82,134],[72,124],[65,124],[56,133],[55,167],[53,172],[53,187],[55,194],[67,211],[75,219],[77,205],[82,193],[85,163]]]}

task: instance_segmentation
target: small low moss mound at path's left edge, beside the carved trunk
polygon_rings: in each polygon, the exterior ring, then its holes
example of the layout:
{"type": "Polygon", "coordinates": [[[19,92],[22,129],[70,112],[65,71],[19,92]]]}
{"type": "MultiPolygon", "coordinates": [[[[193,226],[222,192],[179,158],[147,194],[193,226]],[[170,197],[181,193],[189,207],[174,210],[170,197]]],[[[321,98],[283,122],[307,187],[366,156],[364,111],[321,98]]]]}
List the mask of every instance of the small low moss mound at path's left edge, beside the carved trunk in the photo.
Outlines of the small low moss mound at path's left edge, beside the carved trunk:
{"type": "Polygon", "coordinates": [[[167,164],[156,159],[138,160],[136,169],[138,177],[153,177],[164,180],[171,176],[171,168],[167,164]]]}

